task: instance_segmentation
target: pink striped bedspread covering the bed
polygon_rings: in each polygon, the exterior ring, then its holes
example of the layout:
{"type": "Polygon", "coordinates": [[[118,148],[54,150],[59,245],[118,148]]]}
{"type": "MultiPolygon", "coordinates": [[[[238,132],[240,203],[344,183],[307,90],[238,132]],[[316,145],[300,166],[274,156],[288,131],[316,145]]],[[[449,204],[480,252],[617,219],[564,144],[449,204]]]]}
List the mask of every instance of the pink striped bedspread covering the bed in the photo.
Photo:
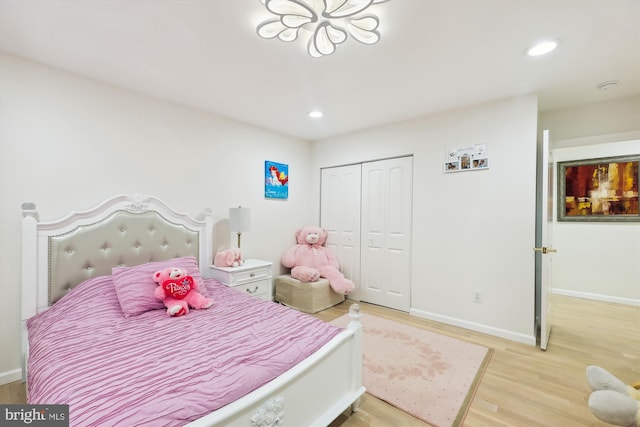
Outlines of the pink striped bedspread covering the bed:
{"type": "Polygon", "coordinates": [[[173,426],[276,378],[341,329],[205,280],[207,310],[125,318],[110,276],[28,321],[28,396],[69,404],[73,426],[173,426]]]}

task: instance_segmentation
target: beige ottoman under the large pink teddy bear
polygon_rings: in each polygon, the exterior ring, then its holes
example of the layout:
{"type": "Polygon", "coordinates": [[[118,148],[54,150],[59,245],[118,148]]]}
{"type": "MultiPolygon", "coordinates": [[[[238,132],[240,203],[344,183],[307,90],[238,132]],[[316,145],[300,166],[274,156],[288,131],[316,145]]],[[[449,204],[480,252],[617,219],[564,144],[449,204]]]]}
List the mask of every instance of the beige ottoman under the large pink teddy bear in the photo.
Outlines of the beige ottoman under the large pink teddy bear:
{"type": "Polygon", "coordinates": [[[275,279],[276,301],[305,313],[317,313],[344,301],[331,289],[327,279],[301,282],[286,274],[275,279]]]}

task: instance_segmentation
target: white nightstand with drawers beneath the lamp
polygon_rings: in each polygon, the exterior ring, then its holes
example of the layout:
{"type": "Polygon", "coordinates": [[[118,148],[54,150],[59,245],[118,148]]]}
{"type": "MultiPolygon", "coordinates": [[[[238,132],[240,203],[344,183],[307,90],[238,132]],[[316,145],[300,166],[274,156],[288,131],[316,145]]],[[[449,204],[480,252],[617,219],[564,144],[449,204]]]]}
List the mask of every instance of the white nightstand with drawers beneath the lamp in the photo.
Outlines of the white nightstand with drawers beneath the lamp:
{"type": "Polygon", "coordinates": [[[251,296],[273,301],[271,263],[258,259],[246,259],[238,267],[211,266],[211,277],[227,286],[251,296]]]}

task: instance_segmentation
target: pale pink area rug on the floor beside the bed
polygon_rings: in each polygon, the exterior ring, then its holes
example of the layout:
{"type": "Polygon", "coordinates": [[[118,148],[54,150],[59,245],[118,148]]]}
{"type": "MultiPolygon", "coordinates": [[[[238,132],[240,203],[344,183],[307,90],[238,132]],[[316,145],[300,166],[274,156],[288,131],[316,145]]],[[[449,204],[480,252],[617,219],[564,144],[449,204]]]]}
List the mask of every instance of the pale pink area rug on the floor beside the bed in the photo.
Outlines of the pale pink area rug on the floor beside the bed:
{"type": "Polygon", "coordinates": [[[367,393],[433,426],[462,425],[491,350],[368,314],[362,325],[367,393]]]}

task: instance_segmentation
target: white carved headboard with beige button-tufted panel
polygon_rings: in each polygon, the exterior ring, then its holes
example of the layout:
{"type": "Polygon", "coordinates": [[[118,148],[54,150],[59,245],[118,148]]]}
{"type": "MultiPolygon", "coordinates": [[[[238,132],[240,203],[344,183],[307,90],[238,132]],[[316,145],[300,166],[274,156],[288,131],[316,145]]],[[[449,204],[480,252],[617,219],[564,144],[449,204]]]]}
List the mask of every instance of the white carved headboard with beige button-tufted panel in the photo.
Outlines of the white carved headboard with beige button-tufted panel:
{"type": "Polygon", "coordinates": [[[193,255],[207,277],[213,260],[210,210],[197,220],[155,197],[121,195],[53,222],[40,222],[33,203],[22,211],[22,320],[116,266],[193,255]]]}

